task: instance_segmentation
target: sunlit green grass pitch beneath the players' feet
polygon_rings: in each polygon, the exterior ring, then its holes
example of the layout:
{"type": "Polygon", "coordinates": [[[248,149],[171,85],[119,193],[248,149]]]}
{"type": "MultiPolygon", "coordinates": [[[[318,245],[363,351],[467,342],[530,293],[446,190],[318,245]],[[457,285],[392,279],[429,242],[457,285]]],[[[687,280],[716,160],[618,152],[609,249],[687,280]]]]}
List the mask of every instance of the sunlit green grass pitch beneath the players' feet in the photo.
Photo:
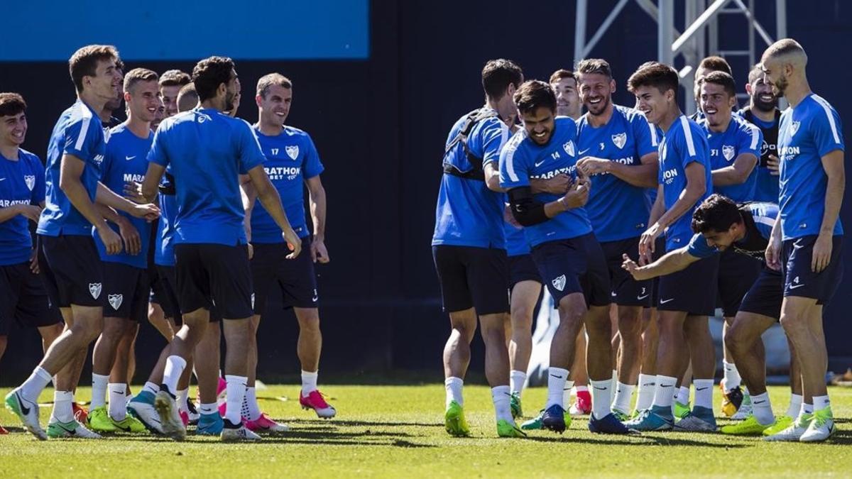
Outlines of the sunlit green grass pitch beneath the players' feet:
{"type": "MultiPolygon", "coordinates": [[[[9,390],[0,390],[5,395],[9,390]]],[[[486,387],[465,388],[471,438],[452,438],[443,427],[444,389],[417,386],[329,386],[339,412],[323,421],[302,411],[295,386],[258,391],[261,407],[291,426],[256,444],[222,444],[190,434],[185,442],[153,436],[111,436],[103,441],[36,441],[20,432],[6,410],[0,424],[0,476],[110,476],[206,478],[288,476],[849,476],[852,463],[852,389],[832,388],[838,432],[825,444],[766,443],[722,434],[646,433],[636,437],[591,434],[575,419],[562,436],[533,431],[527,439],[496,436],[486,387]],[[290,401],[275,399],[288,395],[290,401]]],[[[777,412],[786,388],[770,390],[777,412]]],[[[524,393],[525,413],[543,404],[542,388],[524,393]]],[[[79,398],[88,398],[80,390],[79,398]]],[[[49,393],[42,396],[49,399],[49,393]]],[[[716,401],[719,400],[718,393],[716,401]]],[[[46,427],[49,407],[42,408],[46,427]]],[[[719,424],[727,424],[720,420],[719,424]]]]}

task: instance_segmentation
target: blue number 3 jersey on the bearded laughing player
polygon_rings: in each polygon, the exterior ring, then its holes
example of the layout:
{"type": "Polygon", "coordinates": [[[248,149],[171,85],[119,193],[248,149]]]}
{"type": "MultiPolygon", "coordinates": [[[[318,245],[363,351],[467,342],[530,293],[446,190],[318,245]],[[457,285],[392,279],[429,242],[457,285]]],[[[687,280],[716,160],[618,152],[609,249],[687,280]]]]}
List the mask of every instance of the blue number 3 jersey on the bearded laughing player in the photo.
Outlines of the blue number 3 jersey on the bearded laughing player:
{"type": "MultiPolygon", "coordinates": [[[[579,119],[577,156],[639,166],[643,156],[657,152],[658,138],[642,112],[613,105],[612,117],[601,127],[591,126],[589,113],[579,119]]],[[[651,211],[646,189],[606,173],[592,177],[585,209],[599,241],[636,238],[645,231],[651,211]]]]}

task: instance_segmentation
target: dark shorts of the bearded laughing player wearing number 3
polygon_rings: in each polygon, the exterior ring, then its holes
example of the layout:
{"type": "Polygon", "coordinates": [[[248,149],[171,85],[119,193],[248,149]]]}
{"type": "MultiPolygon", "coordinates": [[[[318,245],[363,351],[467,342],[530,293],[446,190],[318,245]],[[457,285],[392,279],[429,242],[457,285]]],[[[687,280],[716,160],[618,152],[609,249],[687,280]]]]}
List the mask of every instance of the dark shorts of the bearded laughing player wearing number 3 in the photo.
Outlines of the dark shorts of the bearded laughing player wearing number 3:
{"type": "Polygon", "coordinates": [[[621,255],[627,253],[631,258],[639,257],[639,238],[607,241],[601,243],[601,249],[603,256],[607,258],[609,282],[613,287],[613,303],[619,306],[650,307],[653,300],[653,280],[636,281],[625,268],[621,268],[625,263],[621,255]]]}

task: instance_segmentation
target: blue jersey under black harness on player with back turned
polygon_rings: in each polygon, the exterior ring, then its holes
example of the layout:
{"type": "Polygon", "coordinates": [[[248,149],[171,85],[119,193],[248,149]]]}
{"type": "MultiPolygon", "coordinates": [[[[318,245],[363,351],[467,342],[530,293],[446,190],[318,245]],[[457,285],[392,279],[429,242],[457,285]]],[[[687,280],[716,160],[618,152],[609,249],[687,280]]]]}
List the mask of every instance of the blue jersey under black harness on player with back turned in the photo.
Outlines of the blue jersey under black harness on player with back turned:
{"type": "MultiPolygon", "coordinates": [[[[452,125],[446,145],[458,136],[465,119],[452,125]]],[[[498,116],[477,122],[468,135],[468,148],[472,155],[482,159],[481,167],[497,162],[500,150],[509,139],[509,127],[498,116]]],[[[444,157],[458,171],[475,168],[460,145],[444,157]]],[[[432,245],[474,246],[504,249],[503,193],[488,189],[485,182],[445,173],[440,177],[438,202],[435,205],[435,232],[432,245]]]]}

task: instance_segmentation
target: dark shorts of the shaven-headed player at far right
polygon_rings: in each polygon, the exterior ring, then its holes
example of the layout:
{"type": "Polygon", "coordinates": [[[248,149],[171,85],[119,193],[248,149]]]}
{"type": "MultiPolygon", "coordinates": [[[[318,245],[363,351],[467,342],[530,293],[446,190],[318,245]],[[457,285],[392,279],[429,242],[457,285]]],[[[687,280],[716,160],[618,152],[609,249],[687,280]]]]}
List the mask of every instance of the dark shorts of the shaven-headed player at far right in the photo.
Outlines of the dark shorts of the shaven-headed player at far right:
{"type": "Polygon", "coordinates": [[[781,247],[784,296],[812,297],[817,304],[828,304],[843,278],[843,235],[832,237],[832,257],[820,273],[810,268],[815,242],[815,234],[784,241],[781,247]]]}

